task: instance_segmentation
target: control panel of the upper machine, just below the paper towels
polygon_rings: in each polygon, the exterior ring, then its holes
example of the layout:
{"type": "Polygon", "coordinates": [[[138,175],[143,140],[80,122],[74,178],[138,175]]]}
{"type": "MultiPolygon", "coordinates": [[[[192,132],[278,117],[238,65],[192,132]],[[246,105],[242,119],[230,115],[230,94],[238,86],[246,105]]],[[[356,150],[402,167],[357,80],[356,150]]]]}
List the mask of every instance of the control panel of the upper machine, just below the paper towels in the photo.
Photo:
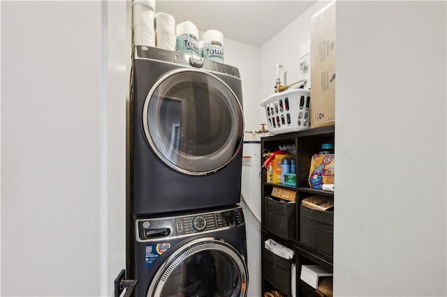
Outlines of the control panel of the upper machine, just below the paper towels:
{"type": "Polygon", "coordinates": [[[214,71],[217,73],[225,73],[226,75],[240,78],[239,70],[233,66],[219,63],[210,59],[204,59],[200,56],[194,56],[192,54],[163,50],[158,47],[136,45],[133,52],[133,59],[154,59],[166,61],[191,66],[194,68],[200,68],[203,70],[214,71]]]}

